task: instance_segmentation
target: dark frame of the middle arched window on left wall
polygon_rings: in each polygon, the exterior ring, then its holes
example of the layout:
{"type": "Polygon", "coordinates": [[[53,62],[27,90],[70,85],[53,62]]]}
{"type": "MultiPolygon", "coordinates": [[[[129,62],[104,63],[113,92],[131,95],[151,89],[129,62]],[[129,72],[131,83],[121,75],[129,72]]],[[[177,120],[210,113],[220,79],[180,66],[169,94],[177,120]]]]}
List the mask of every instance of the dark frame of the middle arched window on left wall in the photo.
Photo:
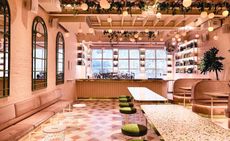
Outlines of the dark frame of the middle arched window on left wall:
{"type": "Polygon", "coordinates": [[[47,88],[47,76],[48,76],[48,69],[47,69],[47,65],[48,64],[48,32],[47,32],[47,27],[46,27],[46,24],[45,24],[45,21],[40,17],[40,16],[36,16],[33,20],[33,24],[32,24],[32,91],[35,91],[35,90],[40,90],[40,89],[44,89],[44,88],[47,88]],[[44,60],[44,82],[43,83],[36,83],[36,61],[37,58],[36,55],[36,49],[37,49],[37,25],[38,24],[41,24],[42,27],[43,27],[43,30],[44,30],[44,58],[40,58],[40,59],[43,59],[44,60]],[[35,55],[35,56],[34,56],[35,55]],[[35,61],[34,61],[35,60],[35,61]],[[35,64],[35,66],[34,66],[35,64]],[[35,76],[35,78],[34,78],[35,76]],[[42,85],[39,87],[39,85],[42,85]]]}

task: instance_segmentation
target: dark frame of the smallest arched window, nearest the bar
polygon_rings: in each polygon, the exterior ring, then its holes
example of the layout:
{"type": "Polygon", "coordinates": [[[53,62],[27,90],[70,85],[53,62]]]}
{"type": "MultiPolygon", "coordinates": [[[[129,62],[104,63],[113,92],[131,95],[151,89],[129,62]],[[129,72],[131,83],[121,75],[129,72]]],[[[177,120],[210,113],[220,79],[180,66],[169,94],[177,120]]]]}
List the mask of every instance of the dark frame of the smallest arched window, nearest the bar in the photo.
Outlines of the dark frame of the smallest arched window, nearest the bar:
{"type": "Polygon", "coordinates": [[[60,85],[60,84],[64,84],[65,82],[65,39],[64,39],[64,36],[61,32],[58,32],[57,33],[57,36],[56,36],[56,85],[60,85]],[[62,41],[62,44],[60,44],[59,41],[62,41]],[[63,49],[63,52],[60,53],[59,52],[59,49],[60,49],[60,45],[62,45],[62,49],[63,49]],[[62,73],[63,73],[63,77],[62,79],[58,79],[58,73],[60,72],[59,71],[59,55],[62,54],[62,73]]]}

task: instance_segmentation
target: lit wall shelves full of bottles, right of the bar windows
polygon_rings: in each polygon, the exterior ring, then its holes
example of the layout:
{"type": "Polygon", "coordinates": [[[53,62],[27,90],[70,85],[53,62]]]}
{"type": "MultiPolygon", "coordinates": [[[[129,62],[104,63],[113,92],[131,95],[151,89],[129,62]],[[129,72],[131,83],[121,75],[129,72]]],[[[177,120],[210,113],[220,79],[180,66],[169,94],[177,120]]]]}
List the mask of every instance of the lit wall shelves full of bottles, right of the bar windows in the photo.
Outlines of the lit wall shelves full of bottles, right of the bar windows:
{"type": "Polygon", "coordinates": [[[191,40],[179,45],[178,52],[175,54],[176,73],[197,73],[197,53],[197,40],[191,40]]]}

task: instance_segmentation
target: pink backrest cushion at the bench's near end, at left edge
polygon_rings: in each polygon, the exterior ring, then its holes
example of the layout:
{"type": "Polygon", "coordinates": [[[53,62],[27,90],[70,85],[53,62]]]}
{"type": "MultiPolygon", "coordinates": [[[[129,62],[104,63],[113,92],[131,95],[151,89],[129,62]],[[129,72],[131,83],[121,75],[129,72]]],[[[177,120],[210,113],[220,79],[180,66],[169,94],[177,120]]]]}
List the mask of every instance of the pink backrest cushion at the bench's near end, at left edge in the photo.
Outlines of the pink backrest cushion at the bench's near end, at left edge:
{"type": "Polygon", "coordinates": [[[14,104],[0,107],[0,128],[1,125],[13,118],[15,118],[14,104]]]}

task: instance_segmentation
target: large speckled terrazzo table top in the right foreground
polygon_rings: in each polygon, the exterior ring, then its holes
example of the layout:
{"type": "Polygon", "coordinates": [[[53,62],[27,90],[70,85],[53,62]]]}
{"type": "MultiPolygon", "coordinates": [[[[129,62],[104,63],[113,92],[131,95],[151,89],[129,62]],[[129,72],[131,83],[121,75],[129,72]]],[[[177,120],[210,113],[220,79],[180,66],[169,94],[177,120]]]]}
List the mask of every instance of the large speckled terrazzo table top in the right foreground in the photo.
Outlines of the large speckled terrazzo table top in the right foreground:
{"type": "Polygon", "coordinates": [[[230,141],[230,130],[179,105],[141,105],[165,141],[230,141]]]}

